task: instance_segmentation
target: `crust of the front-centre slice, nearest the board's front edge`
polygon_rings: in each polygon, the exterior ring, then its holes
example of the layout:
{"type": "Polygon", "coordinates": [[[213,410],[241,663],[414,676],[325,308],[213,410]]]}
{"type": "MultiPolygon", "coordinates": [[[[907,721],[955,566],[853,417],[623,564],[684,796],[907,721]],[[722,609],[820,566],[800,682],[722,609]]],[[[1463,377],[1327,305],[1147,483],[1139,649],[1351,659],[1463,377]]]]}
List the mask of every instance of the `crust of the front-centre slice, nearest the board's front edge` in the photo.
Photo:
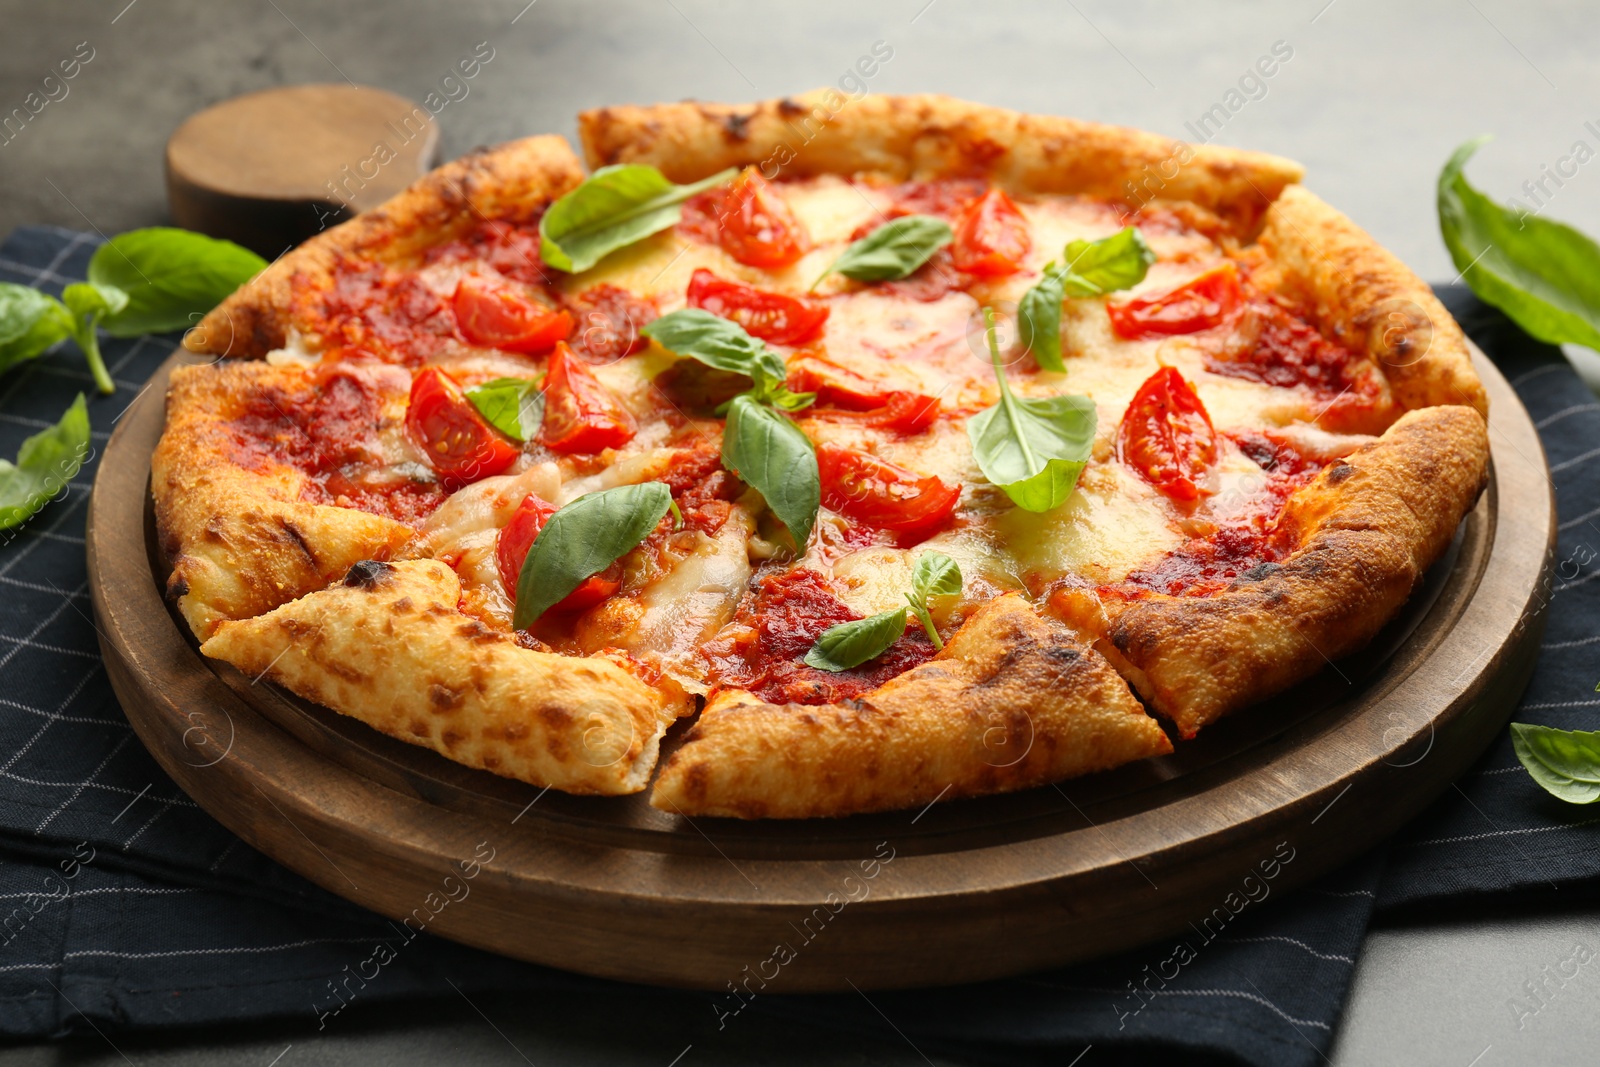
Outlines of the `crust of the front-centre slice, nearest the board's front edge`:
{"type": "Polygon", "coordinates": [[[1166,752],[1166,734],[1110,664],[1008,593],[931,661],[858,701],[712,697],[650,803],[808,819],[1003,793],[1166,752]]]}

